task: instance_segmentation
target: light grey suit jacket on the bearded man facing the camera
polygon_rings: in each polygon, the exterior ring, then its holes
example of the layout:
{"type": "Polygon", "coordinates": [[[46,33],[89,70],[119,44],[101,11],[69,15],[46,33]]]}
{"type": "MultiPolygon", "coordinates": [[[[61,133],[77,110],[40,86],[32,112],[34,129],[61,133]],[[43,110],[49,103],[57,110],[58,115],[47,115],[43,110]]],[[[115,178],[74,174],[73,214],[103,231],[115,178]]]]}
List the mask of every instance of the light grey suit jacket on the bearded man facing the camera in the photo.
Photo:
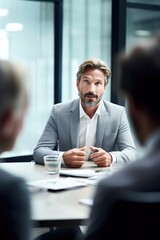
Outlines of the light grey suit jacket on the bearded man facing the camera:
{"type": "MultiPolygon", "coordinates": [[[[115,155],[118,162],[135,160],[135,145],[125,108],[102,100],[98,118],[95,147],[115,155]]],[[[46,127],[33,152],[36,162],[43,164],[43,156],[78,147],[79,99],[55,104],[46,127]]]]}

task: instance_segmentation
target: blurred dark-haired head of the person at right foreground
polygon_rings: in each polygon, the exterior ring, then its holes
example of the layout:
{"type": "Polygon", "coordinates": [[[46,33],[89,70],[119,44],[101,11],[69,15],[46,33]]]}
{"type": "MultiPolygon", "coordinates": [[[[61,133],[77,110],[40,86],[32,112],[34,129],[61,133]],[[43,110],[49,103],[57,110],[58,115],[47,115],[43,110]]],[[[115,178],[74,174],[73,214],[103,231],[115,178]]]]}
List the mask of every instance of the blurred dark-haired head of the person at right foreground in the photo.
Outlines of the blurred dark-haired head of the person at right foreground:
{"type": "Polygon", "coordinates": [[[144,144],[160,128],[160,37],[156,36],[120,55],[119,87],[137,139],[144,144]]]}

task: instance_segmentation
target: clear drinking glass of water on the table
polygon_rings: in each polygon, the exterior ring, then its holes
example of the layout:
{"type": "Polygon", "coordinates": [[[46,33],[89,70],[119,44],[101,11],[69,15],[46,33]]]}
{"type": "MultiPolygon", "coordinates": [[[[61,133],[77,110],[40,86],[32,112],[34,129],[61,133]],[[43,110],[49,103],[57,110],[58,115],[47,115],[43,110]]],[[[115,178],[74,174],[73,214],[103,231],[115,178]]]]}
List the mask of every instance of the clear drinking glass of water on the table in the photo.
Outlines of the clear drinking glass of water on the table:
{"type": "Polygon", "coordinates": [[[45,155],[43,159],[47,173],[52,174],[54,178],[59,178],[61,165],[59,154],[45,155]]]}

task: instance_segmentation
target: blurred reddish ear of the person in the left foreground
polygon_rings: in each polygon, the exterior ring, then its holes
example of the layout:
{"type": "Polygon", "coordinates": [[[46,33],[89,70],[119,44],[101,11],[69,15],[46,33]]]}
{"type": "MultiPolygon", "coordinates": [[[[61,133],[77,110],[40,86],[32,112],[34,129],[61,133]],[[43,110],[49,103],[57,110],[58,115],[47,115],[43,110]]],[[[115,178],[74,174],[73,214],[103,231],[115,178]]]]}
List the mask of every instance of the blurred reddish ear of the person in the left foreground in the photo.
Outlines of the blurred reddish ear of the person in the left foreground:
{"type": "Polygon", "coordinates": [[[14,129],[14,116],[12,111],[7,111],[0,120],[1,133],[10,136],[14,129]]]}

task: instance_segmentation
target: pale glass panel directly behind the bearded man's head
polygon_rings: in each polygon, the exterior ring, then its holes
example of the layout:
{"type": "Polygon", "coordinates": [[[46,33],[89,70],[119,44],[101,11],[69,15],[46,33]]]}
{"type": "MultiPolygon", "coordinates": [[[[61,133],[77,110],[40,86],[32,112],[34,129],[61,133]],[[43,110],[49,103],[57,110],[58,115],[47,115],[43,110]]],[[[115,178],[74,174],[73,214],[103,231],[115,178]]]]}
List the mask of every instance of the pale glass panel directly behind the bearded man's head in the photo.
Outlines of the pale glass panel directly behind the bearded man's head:
{"type": "MultiPolygon", "coordinates": [[[[76,72],[90,57],[111,62],[111,0],[63,1],[62,101],[78,97],[76,72]]],[[[105,99],[110,100],[110,83],[105,99]]]]}

